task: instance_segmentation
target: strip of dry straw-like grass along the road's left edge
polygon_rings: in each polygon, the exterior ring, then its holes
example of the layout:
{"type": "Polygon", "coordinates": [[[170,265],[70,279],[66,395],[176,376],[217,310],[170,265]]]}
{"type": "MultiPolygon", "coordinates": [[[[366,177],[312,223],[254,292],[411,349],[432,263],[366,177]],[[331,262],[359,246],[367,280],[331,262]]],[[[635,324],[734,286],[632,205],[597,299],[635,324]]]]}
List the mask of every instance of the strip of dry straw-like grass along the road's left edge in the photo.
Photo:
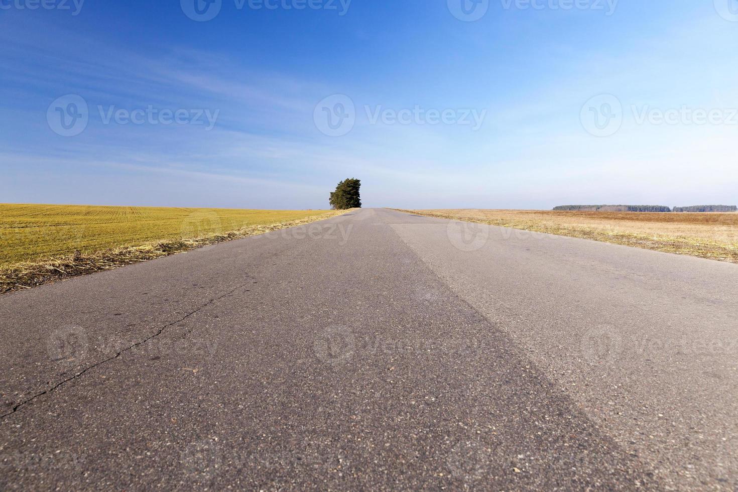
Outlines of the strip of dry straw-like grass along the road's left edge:
{"type": "MultiPolygon", "coordinates": [[[[207,212],[202,212],[205,214],[203,215],[205,218],[209,217],[208,214],[213,213],[212,209],[201,210],[207,210],[207,212]]],[[[263,212],[262,220],[264,218],[269,220],[269,218],[275,215],[275,213],[276,215],[280,215],[286,211],[263,212]]],[[[142,243],[139,244],[111,246],[97,251],[93,250],[91,252],[81,252],[77,249],[73,254],[62,254],[56,257],[48,257],[35,261],[0,262],[0,294],[52,283],[69,277],[75,277],[77,275],[93,273],[95,271],[109,270],[119,266],[141,263],[142,261],[189,251],[201,246],[222,243],[233,239],[247,238],[249,236],[264,234],[278,229],[286,229],[287,227],[309,224],[314,221],[342,215],[346,212],[350,211],[314,210],[292,212],[292,215],[303,215],[303,217],[292,221],[283,221],[273,224],[248,225],[229,232],[207,232],[206,228],[206,232],[198,231],[199,233],[193,235],[193,237],[187,237],[187,232],[184,232],[184,234],[180,233],[184,235],[184,238],[142,241],[142,243]]],[[[289,216],[289,213],[286,215],[289,216]]],[[[189,216],[190,215],[185,215],[185,217],[189,216]]],[[[213,217],[210,217],[210,219],[213,217]]],[[[255,220],[258,221],[258,219],[249,218],[249,221],[253,222],[255,220]]],[[[208,222],[208,224],[210,223],[208,222]]],[[[123,224],[119,224],[118,226],[122,227],[123,224]]],[[[187,229],[187,227],[188,226],[185,226],[185,229],[187,229]]],[[[218,229],[221,228],[222,224],[218,225],[218,229]]],[[[210,229],[212,229],[212,227],[210,227],[210,229]]],[[[108,234],[114,234],[114,231],[109,230],[108,234]]],[[[48,236],[46,237],[48,238],[48,236]]],[[[90,235],[90,238],[92,237],[93,235],[90,235]]],[[[82,233],[81,238],[83,240],[85,239],[84,233],[82,233]]],[[[114,238],[112,240],[114,240],[114,238]]],[[[49,245],[49,247],[55,248],[58,247],[58,245],[52,244],[49,245]]],[[[5,260],[5,258],[3,258],[3,260],[5,260]]]]}

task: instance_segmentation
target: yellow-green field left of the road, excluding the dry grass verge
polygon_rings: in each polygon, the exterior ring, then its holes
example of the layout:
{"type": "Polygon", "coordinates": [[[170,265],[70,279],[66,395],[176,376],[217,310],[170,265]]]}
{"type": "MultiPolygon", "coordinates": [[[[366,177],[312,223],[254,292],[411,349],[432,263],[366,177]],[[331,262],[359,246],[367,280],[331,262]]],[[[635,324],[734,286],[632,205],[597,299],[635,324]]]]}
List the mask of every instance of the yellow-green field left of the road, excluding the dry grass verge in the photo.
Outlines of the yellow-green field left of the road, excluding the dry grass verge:
{"type": "Polygon", "coordinates": [[[225,235],[328,210],[242,210],[0,204],[0,269],[79,252],[225,235]]]}

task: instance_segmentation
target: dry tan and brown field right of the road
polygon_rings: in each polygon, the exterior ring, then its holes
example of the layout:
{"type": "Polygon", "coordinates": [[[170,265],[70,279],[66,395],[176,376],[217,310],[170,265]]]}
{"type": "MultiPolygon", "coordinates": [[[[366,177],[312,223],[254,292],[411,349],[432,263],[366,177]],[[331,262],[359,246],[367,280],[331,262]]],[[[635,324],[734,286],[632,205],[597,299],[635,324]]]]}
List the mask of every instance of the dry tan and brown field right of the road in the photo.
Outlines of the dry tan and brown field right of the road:
{"type": "Polygon", "coordinates": [[[738,213],[404,210],[738,263],[738,213]]]}

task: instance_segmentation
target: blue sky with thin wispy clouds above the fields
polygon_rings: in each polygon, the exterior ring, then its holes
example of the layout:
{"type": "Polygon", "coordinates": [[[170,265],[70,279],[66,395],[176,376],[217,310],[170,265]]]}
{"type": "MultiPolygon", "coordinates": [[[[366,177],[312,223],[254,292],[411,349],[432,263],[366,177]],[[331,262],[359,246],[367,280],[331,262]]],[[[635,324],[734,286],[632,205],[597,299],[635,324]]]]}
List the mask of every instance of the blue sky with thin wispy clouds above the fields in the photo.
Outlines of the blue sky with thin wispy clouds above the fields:
{"type": "Polygon", "coordinates": [[[737,0],[41,1],[0,0],[0,202],[738,203],[737,0]]]}

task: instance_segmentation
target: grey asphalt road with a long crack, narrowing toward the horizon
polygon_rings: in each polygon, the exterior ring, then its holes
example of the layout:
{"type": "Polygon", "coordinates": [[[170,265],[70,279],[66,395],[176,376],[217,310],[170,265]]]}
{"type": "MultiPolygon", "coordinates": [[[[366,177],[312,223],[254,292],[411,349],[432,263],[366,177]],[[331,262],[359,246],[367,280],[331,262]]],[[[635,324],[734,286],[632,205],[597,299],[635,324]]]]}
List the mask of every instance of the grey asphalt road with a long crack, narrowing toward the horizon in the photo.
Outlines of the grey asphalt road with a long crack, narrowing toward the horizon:
{"type": "Polygon", "coordinates": [[[2,490],[737,490],[738,266],[362,209],[0,297],[2,490]]]}

